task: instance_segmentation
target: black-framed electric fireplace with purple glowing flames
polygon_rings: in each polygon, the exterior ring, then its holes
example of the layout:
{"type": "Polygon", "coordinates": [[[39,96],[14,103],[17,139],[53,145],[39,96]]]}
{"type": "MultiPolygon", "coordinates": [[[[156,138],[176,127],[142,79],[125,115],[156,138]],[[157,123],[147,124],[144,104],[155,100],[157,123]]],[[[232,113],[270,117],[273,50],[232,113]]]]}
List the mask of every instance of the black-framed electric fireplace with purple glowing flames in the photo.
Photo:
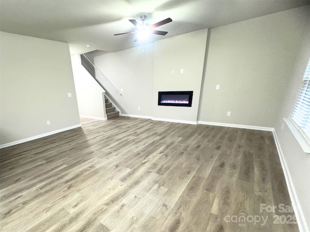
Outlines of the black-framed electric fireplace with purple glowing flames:
{"type": "Polygon", "coordinates": [[[193,91],[158,92],[158,105],[192,106],[193,91]]]}

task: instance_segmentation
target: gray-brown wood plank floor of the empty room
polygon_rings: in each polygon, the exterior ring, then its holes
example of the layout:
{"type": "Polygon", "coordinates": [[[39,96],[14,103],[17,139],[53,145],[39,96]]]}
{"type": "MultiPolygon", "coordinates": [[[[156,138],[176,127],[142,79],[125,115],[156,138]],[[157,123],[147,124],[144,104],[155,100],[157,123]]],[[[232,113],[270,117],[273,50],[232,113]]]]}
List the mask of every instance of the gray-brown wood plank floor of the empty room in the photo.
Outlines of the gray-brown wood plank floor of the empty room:
{"type": "Polygon", "coordinates": [[[261,203],[291,204],[271,132],[129,117],[81,122],[0,150],[1,231],[298,231],[273,223],[278,209],[260,212],[261,203]],[[249,221],[228,221],[240,214],[249,221]],[[255,225],[248,216],[268,219],[255,225]]]}

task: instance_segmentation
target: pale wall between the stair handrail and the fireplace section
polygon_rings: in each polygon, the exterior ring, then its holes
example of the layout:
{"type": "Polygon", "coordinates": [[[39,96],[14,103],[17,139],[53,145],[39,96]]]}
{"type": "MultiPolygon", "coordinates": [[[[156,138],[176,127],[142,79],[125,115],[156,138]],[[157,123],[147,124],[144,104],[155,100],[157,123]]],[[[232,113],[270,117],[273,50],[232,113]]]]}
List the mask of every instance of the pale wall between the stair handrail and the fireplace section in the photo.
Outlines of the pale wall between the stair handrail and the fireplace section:
{"type": "Polygon", "coordinates": [[[119,95],[96,71],[96,78],[107,95],[125,115],[152,116],[153,43],[145,45],[144,50],[142,53],[141,47],[135,47],[104,55],[88,55],[119,91],[123,88],[122,95],[119,95]]]}

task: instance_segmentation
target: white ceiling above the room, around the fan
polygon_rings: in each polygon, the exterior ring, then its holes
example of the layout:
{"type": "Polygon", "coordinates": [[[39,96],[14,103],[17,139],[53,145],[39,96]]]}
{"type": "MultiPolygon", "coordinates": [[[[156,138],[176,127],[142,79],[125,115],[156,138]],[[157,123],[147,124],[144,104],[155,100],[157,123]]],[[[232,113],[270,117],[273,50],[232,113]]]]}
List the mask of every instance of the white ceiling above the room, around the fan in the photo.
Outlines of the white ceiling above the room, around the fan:
{"type": "Polygon", "coordinates": [[[135,30],[128,19],[146,14],[165,36],[149,42],[214,28],[310,4],[310,0],[0,0],[0,30],[70,44],[71,54],[93,50],[115,52],[134,46],[135,30]],[[86,44],[91,44],[90,48],[86,44]]]}

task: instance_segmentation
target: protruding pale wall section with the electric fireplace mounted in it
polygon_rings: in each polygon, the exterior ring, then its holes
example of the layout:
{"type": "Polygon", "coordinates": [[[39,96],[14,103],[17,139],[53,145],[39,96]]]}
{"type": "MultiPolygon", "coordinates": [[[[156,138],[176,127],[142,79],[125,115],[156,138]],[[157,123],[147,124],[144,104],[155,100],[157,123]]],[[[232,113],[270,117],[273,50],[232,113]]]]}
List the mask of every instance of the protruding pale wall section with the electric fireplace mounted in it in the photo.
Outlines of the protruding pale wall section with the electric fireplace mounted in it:
{"type": "Polygon", "coordinates": [[[203,29],[155,41],[153,117],[196,123],[206,38],[203,29]],[[192,107],[157,105],[158,91],[193,91],[192,107]]]}

